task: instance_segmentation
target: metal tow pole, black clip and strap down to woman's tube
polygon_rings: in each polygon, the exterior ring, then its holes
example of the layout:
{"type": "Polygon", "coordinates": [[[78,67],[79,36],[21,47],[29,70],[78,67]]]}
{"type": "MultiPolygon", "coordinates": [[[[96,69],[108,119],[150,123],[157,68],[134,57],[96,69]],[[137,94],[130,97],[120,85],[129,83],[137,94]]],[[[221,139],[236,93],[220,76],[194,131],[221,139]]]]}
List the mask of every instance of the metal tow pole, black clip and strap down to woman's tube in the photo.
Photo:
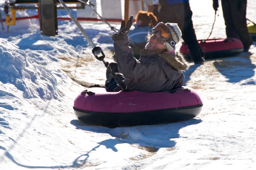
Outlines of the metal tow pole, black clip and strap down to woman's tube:
{"type": "Polygon", "coordinates": [[[88,43],[91,45],[91,47],[93,48],[92,53],[93,55],[96,57],[96,59],[98,59],[99,61],[103,61],[105,67],[107,69],[109,69],[109,71],[111,72],[113,78],[115,79],[115,81],[117,82],[117,84],[122,88],[122,90],[126,89],[126,85],[122,82],[122,80],[120,80],[115,73],[112,71],[112,69],[109,66],[109,63],[104,61],[105,58],[105,54],[103,53],[101,47],[96,47],[93,43],[93,41],[90,39],[89,35],[85,32],[85,30],[83,29],[83,27],[81,26],[81,24],[78,22],[78,20],[75,18],[75,16],[71,13],[71,11],[69,10],[69,8],[66,6],[66,4],[62,1],[59,0],[59,2],[63,5],[63,7],[65,8],[65,10],[68,12],[71,20],[75,23],[75,25],[78,27],[78,29],[82,32],[83,36],[85,37],[85,39],[88,41],[88,43]],[[100,55],[101,56],[98,56],[100,55]]]}

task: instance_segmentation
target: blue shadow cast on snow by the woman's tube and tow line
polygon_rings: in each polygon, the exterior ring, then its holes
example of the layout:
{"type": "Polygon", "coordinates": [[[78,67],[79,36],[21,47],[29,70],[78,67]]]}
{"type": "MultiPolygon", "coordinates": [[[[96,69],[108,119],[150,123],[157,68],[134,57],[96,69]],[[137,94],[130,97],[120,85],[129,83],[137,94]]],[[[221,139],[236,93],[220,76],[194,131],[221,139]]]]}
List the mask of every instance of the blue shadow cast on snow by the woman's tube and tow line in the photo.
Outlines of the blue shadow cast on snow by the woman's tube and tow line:
{"type": "MultiPolygon", "coordinates": [[[[131,127],[117,127],[108,128],[102,126],[90,125],[79,121],[78,119],[72,120],[70,123],[74,125],[77,129],[97,132],[97,133],[108,133],[115,139],[107,139],[98,142],[98,145],[92,148],[90,151],[82,154],[74,159],[73,163],[70,165],[56,165],[56,166],[29,166],[18,163],[9,152],[5,152],[5,155],[12,160],[15,164],[25,168],[79,168],[83,166],[93,166],[92,163],[88,161],[89,154],[92,151],[97,152],[97,148],[100,146],[105,146],[110,148],[114,152],[118,152],[115,145],[122,143],[129,144],[139,144],[142,147],[156,147],[155,152],[159,148],[171,148],[174,147],[176,142],[174,140],[179,138],[179,130],[183,127],[189,125],[196,125],[201,123],[201,119],[190,119],[182,122],[168,123],[168,124],[158,124],[158,125],[141,125],[141,126],[131,126],[131,127]]],[[[184,138],[184,136],[183,136],[184,138]]]]}

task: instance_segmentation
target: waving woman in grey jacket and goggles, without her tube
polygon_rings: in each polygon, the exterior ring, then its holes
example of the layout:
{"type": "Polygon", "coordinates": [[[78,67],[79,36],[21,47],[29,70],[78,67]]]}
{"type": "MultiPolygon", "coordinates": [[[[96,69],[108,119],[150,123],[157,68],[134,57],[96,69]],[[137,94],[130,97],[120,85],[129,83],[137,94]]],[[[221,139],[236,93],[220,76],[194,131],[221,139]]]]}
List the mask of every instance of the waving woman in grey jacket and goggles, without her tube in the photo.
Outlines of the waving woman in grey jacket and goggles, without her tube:
{"type": "MultiPolygon", "coordinates": [[[[189,68],[187,61],[175,51],[181,39],[181,30],[176,23],[158,23],[152,28],[145,49],[137,60],[129,47],[128,32],[132,24],[131,16],[127,25],[123,21],[117,34],[112,35],[117,63],[110,67],[125,84],[126,89],[142,92],[161,92],[182,87],[183,71],[189,68]],[[118,69],[117,69],[118,67],[118,69]]],[[[106,73],[105,87],[108,92],[122,89],[114,77],[106,73]]]]}

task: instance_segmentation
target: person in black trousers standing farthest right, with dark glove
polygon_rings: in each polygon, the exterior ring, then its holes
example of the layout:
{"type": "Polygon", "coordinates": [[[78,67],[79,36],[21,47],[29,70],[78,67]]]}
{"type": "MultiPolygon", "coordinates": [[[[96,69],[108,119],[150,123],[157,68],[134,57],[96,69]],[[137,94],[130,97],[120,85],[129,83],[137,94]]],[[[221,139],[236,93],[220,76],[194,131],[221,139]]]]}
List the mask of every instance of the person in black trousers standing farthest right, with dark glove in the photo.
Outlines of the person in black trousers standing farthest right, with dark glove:
{"type": "MultiPolygon", "coordinates": [[[[253,40],[246,24],[247,0],[222,0],[223,18],[227,38],[238,38],[243,43],[243,52],[248,52],[253,40]]],[[[219,0],[213,0],[213,9],[218,10],[219,0]]]]}

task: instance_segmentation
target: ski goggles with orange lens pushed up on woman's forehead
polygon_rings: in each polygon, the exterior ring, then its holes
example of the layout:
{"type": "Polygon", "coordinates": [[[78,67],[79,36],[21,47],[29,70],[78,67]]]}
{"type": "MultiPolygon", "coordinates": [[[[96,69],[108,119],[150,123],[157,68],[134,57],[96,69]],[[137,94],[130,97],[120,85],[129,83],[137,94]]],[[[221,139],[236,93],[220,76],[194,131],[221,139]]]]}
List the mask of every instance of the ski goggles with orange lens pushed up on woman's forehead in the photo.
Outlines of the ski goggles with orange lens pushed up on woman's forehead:
{"type": "Polygon", "coordinates": [[[173,40],[170,29],[162,22],[159,22],[154,28],[152,28],[154,34],[158,33],[158,37],[167,43],[170,43],[171,46],[175,46],[176,43],[173,40]]]}

